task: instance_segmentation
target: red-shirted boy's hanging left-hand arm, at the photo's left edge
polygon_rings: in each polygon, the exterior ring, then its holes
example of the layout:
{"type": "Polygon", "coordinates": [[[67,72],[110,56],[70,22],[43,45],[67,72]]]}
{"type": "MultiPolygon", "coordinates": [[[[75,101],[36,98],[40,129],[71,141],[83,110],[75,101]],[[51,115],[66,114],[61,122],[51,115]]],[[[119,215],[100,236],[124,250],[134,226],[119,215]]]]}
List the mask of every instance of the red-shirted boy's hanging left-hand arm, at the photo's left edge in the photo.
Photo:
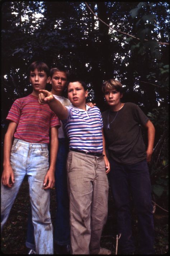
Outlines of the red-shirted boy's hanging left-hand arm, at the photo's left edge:
{"type": "Polygon", "coordinates": [[[10,122],[4,138],[4,169],[2,173],[2,183],[8,187],[12,187],[15,182],[14,172],[10,163],[10,153],[16,127],[17,124],[15,122],[10,122]]]}

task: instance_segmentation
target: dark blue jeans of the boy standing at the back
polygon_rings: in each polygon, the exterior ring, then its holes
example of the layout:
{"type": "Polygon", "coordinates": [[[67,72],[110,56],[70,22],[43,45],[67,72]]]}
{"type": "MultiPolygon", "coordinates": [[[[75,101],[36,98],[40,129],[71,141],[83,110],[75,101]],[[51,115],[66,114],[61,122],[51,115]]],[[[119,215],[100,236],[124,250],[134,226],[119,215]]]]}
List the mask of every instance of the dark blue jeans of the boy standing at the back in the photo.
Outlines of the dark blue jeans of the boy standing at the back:
{"type": "MultiPolygon", "coordinates": [[[[59,245],[70,243],[70,221],[69,221],[69,196],[67,192],[67,172],[66,159],[69,151],[69,143],[65,138],[59,138],[56,170],[55,170],[55,190],[56,190],[56,219],[54,228],[54,241],[59,245]]],[[[32,225],[31,211],[28,214],[27,239],[25,245],[30,249],[35,249],[34,231],[32,225]]]]}

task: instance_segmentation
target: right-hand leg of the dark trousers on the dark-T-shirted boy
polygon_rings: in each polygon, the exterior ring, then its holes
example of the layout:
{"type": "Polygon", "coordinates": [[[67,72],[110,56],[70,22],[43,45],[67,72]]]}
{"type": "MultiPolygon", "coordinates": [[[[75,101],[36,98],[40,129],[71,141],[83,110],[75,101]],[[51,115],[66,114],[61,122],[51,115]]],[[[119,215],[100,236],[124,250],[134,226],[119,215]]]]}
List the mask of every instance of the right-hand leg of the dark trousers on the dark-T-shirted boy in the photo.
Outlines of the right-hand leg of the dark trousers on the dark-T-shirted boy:
{"type": "Polygon", "coordinates": [[[154,216],[151,183],[146,160],[128,165],[134,206],[138,216],[139,251],[154,254],[154,216]]]}

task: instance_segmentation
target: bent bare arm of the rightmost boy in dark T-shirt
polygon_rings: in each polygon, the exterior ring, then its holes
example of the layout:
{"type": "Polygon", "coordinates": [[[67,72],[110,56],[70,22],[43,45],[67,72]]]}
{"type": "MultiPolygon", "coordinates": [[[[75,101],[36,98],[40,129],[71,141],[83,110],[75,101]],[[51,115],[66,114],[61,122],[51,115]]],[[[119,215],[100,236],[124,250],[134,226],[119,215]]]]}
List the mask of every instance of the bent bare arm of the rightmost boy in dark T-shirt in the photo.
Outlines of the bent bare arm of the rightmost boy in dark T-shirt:
{"type": "Polygon", "coordinates": [[[145,127],[147,128],[147,136],[148,136],[148,146],[146,150],[146,160],[150,162],[151,156],[154,148],[154,140],[155,140],[155,127],[150,120],[146,123],[145,127]]]}

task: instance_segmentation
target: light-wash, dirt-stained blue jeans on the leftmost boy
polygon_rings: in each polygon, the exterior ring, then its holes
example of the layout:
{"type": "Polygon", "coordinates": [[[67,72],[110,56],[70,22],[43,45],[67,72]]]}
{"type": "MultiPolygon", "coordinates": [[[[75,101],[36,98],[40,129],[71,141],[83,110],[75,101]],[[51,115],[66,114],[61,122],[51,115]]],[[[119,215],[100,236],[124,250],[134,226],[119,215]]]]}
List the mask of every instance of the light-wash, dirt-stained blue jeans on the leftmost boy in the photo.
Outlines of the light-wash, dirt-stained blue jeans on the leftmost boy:
{"type": "MultiPolygon", "coordinates": [[[[37,254],[53,254],[53,226],[49,212],[50,190],[43,181],[48,171],[48,144],[14,139],[10,155],[15,183],[12,188],[1,185],[1,230],[25,175],[28,175],[32,222],[37,254]]],[[[25,206],[26,207],[26,206],[25,206]]]]}

